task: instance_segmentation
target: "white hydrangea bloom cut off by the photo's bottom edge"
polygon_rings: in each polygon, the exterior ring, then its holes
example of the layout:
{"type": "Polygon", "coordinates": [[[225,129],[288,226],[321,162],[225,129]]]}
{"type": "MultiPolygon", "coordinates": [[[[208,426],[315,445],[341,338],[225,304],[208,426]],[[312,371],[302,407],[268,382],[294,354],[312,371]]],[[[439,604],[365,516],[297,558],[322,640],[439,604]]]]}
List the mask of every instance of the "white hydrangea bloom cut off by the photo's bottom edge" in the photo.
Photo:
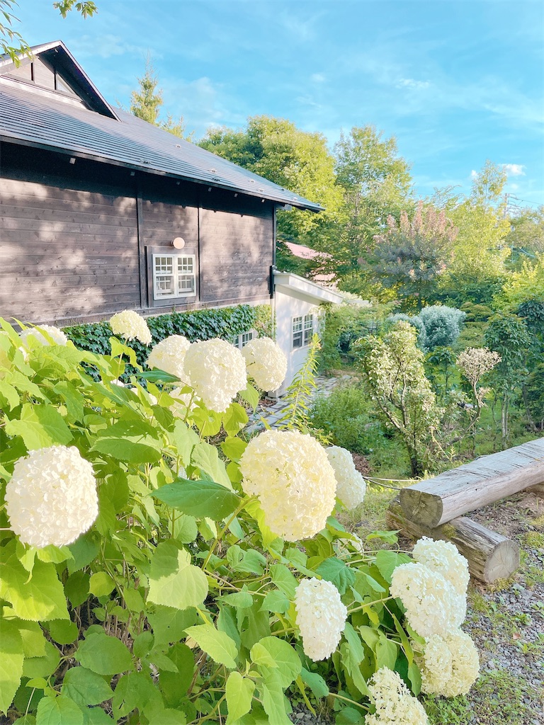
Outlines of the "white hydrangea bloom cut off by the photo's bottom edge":
{"type": "Polygon", "coordinates": [[[376,713],[366,725],[429,725],[423,705],[411,695],[397,672],[380,668],[368,681],[376,713]]]}

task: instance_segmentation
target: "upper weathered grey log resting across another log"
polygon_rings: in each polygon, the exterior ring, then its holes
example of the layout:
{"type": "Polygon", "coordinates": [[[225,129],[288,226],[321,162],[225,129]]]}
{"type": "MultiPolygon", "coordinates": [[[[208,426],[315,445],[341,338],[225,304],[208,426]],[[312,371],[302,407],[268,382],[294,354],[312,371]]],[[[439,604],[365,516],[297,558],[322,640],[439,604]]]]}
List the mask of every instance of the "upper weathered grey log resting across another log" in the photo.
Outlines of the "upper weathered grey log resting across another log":
{"type": "MultiPolygon", "coordinates": [[[[499,454],[486,458],[495,455],[499,454]]],[[[544,459],[528,460],[525,465],[517,461],[508,465],[506,458],[503,462],[502,473],[495,471],[492,461],[478,459],[403,489],[400,505],[406,518],[434,529],[463,513],[544,483],[544,459]]]]}

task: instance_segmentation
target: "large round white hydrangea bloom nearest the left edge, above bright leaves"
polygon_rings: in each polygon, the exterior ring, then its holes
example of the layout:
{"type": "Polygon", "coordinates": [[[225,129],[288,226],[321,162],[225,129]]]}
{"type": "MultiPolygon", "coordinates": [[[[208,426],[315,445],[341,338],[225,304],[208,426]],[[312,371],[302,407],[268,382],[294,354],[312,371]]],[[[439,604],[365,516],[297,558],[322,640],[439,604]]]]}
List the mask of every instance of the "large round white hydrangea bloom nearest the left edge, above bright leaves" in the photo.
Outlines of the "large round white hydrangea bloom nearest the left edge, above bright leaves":
{"type": "Polygon", "coordinates": [[[65,546],[98,515],[93,467],[75,447],[30,451],[6,486],[9,523],[23,544],[65,546]]]}

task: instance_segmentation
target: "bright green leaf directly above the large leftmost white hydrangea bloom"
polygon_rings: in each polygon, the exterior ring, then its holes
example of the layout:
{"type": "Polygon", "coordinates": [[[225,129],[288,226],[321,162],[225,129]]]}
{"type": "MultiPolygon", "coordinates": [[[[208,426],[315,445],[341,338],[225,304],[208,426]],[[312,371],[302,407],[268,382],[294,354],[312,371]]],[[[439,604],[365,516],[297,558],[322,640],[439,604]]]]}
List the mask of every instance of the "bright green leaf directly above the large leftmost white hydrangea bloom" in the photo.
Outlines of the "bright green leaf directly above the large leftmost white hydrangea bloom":
{"type": "Polygon", "coordinates": [[[29,451],[66,445],[73,439],[62,415],[50,405],[25,403],[20,420],[6,421],[5,430],[9,436],[21,436],[29,451]]]}

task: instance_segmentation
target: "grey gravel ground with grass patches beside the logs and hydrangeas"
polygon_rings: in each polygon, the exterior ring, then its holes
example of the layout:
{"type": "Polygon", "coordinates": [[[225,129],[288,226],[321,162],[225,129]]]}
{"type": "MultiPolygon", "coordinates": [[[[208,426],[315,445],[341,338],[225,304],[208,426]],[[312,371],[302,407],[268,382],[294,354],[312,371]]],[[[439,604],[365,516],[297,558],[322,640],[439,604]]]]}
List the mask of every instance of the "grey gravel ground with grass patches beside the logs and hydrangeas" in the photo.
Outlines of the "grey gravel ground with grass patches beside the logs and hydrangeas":
{"type": "MultiPolygon", "coordinates": [[[[516,539],[522,562],[511,579],[490,586],[471,581],[463,629],[478,647],[480,676],[466,697],[429,698],[429,723],[544,725],[544,497],[524,492],[470,516],[516,539]]],[[[294,706],[291,720],[334,721],[327,712],[313,716],[304,705],[294,706]]]]}

